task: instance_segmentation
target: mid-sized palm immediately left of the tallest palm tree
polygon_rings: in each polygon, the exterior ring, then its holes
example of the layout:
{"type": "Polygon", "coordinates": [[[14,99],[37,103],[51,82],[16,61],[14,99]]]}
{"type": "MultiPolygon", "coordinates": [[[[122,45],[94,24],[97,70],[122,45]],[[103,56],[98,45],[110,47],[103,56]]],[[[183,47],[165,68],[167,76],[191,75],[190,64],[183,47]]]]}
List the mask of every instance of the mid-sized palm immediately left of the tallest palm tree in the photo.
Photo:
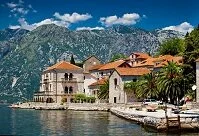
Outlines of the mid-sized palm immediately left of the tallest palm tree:
{"type": "Polygon", "coordinates": [[[136,95],[142,98],[157,98],[159,91],[157,89],[157,77],[156,74],[151,72],[143,75],[138,81],[136,95]]]}

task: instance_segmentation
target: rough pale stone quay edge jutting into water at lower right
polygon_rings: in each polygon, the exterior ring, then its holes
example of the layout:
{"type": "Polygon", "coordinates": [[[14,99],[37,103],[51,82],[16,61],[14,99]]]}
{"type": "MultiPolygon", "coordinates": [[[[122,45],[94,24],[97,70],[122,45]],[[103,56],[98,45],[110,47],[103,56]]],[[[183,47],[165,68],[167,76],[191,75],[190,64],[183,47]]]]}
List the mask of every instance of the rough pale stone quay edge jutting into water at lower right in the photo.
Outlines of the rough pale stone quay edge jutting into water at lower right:
{"type": "MultiPolygon", "coordinates": [[[[125,108],[111,108],[111,113],[123,117],[128,120],[143,124],[144,127],[151,127],[157,131],[167,131],[167,121],[164,117],[151,117],[125,112],[125,108]]],[[[154,113],[156,114],[156,113],[154,113]]],[[[197,131],[199,132],[199,116],[183,116],[180,117],[181,131],[197,131]]]]}

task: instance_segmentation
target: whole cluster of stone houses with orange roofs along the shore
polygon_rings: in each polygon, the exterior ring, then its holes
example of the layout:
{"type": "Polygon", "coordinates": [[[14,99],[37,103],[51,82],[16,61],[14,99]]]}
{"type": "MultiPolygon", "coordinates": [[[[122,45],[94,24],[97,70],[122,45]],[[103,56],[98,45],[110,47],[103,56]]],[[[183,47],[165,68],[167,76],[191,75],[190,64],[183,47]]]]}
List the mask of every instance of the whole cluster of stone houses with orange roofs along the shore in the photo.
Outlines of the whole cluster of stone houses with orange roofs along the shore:
{"type": "Polygon", "coordinates": [[[134,52],[126,59],[102,64],[95,56],[83,62],[83,68],[60,61],[43,71],[40,89],[35,92],[35,102],[62,103],[73,102],[74,94],[95,96],[101,102],[98,91],[109,81],[109,103],[128,103],[137,101],[124,91],[124,83],[136,81],[140,76],[160,70],[168,61],[182,64],[182,57],[164,55],[151,57],[146,53],[134,52]]]}

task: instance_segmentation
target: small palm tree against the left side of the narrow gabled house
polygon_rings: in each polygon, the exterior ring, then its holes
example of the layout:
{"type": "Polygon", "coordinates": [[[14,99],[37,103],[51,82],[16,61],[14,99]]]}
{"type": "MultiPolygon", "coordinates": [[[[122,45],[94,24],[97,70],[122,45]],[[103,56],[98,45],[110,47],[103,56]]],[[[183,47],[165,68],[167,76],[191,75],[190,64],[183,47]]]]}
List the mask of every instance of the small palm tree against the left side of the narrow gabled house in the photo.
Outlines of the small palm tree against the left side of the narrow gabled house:
{"type": "Polygon", "coordinates": [[[109,98],[109,81],[108,80],[105,82],[104,85],[101,85],[99,87],[99,91],[98,91],[97,95],[98,95],[99,99],[108,100],[108,98],[109,98]]]}

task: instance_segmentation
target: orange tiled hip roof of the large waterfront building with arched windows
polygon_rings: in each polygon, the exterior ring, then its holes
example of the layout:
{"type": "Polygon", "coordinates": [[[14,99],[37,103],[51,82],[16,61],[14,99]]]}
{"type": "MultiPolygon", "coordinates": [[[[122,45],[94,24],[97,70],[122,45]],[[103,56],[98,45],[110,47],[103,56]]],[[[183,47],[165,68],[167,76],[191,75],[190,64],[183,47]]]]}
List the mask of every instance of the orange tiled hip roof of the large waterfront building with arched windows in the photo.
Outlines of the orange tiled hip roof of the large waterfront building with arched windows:
{"type": "Polygon", "coordinates": [[[66,61],[60,61],[57,64],[48,67],[45,71],[53,70],[53,69],[59,69],[59,70],[81,70],[82,68],[75,66],[73,64],[70,64],[66,61]]]}

